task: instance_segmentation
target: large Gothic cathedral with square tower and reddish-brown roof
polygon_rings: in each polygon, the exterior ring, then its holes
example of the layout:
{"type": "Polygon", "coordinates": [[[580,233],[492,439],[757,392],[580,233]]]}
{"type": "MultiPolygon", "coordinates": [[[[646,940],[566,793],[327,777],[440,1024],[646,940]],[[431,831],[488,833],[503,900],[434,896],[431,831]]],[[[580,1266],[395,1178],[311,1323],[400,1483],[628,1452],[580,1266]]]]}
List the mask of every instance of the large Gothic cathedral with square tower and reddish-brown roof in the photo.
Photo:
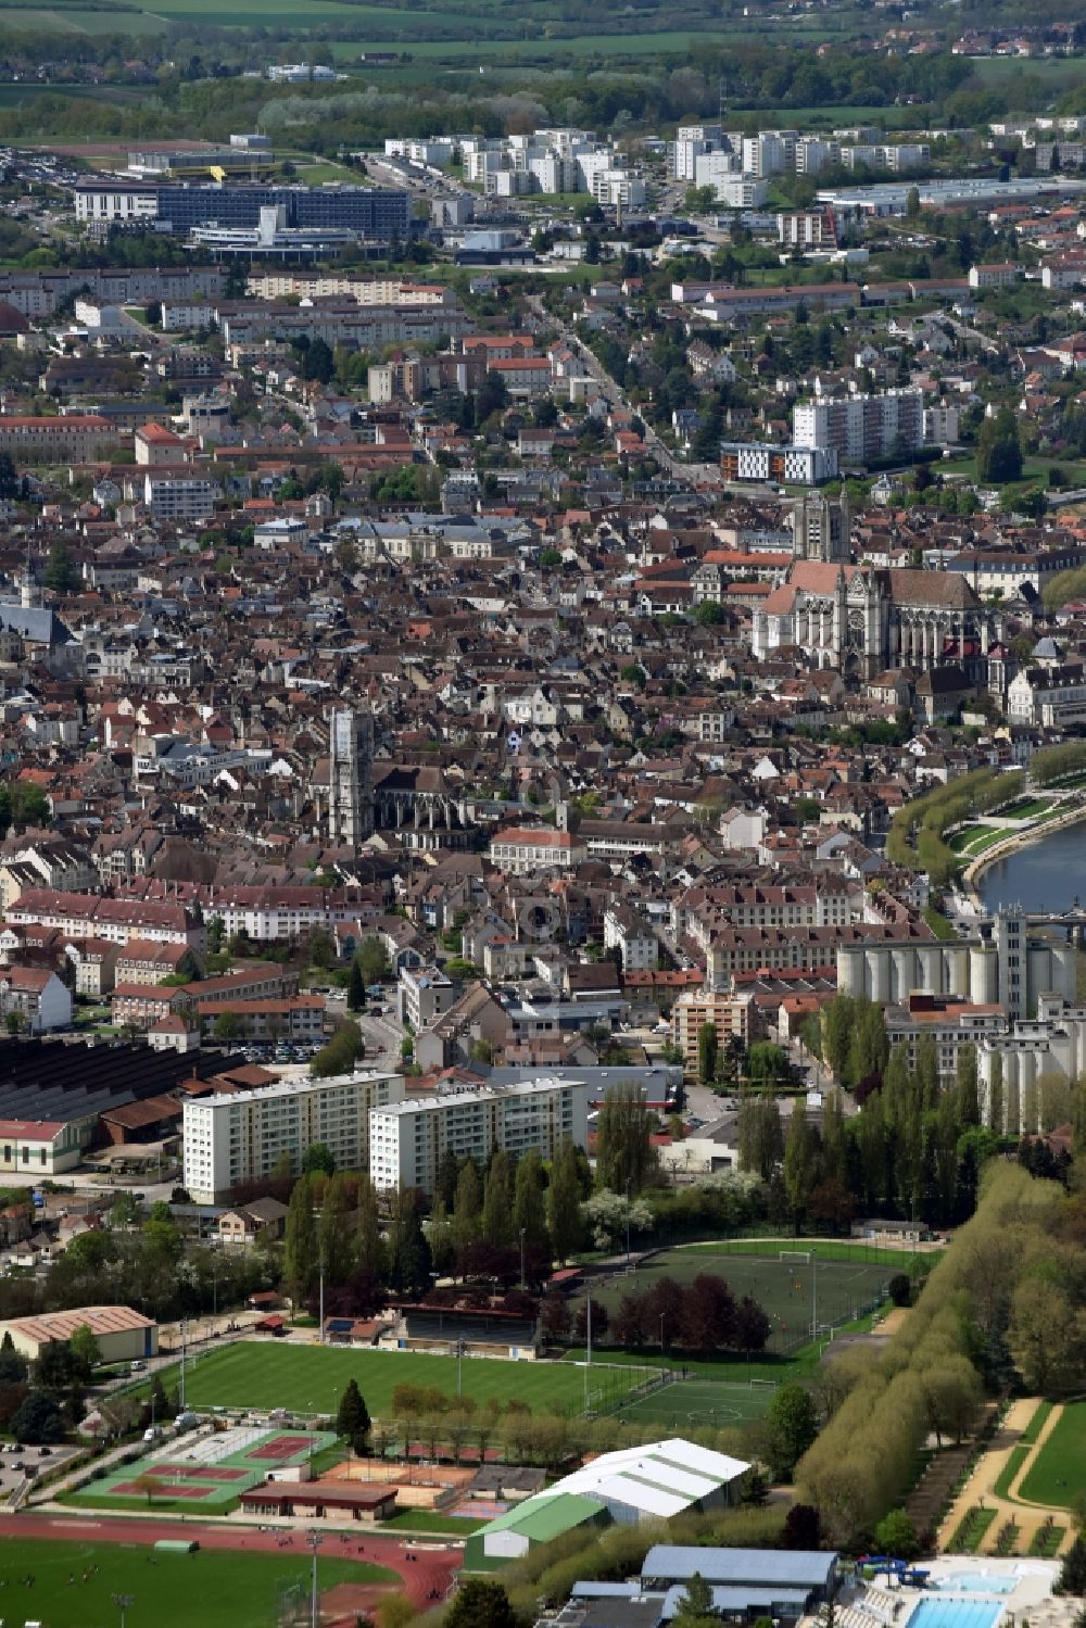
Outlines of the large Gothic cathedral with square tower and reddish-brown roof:
{"type": "Polygon", "coordinates": [[[858,681],[956,666],[980,684],[988,641],[988,612],[959,573],[853,565],[848,500],[798,500],[788,576],[754,612],[755,658],[791,651],[858,681]]]}

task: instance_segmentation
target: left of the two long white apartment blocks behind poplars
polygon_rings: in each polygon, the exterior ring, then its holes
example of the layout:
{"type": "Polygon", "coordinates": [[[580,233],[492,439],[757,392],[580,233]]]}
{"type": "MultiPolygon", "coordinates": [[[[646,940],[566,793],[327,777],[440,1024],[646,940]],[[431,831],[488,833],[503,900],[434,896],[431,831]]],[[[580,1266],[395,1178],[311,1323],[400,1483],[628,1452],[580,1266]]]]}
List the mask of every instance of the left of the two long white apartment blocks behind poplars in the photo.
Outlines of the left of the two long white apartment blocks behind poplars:
{"type": "Polygon", "coordinates": [[[257,1091],[197,1097],[184,1105],[184,1185],[197,1205],[215,1205],[238,1182],[270,1175],[290,1154],[324,1143],[339,1171],[370,1162],[370,1114],[404,1101],[402,1074],[283,1079],[257,1091]]]}

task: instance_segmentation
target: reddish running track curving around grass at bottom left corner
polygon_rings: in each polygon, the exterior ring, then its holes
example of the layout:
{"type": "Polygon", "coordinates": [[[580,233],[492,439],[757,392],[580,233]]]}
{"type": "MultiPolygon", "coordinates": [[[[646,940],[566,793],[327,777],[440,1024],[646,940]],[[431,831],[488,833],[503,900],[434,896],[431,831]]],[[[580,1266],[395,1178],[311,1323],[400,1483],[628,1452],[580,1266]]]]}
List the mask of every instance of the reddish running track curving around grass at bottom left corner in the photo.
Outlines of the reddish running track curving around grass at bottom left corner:
{"type": "MultiPolygon", "coordinates": [[[[459,1569],[461,1550],[418,1548],[415,1543],[397,1543],[394,1538],[373,1537],[358,1532],[340,1535],[327,1530],[319,1553],[335,1560],[365,1560],[374,1566],[388,1566],[399,1573],[404,1591],[420,1610],[433,1605],[430,1591],[444,1594],[459,1569]],[[347,1542],[344,1542],[347,1537],[347,1542]],[[409,1560],[417,1555],[418,1560],[409,1560]]],[[[202,1525],[195,1521],[125,1521],[83,1516],[0,1516],[0,1537],[67,1538],[85,1543],[156,1543],[160,1538],[187,1538],[200,1548],[236,1548],[252,1553],[264,1550],[277,1555],[308,1555],[306,1534],[301,1530],[257,1532],[256,1527],[202,1525]],[[290,1537],[280,1548],[278,1538],[290,1537]]]]}

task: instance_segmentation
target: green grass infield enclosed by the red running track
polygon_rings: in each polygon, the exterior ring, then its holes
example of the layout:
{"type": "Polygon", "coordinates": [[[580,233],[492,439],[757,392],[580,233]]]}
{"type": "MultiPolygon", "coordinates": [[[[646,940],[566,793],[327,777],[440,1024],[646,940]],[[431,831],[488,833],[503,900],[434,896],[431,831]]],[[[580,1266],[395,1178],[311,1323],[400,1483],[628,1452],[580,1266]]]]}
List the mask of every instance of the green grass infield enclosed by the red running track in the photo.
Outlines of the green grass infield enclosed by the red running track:
{"type": "MultiPolygon", "coordinates": [[[[394,1582],[384,1566],[317,1560],[321,1591],[339,1582],[394,1582]]],[[[0,1538],[0,1597],[7,1621],[47,1628],[112,1628],[114,1595],[130,1597],[129,1628],[267,1628],[285,1589],[309,1586],[308,1555],[153,1553],[137,1543],[0,1538]],[[34,1578],[34,1586],[21,1581],[34,1578]],[[86,1576],[86,1582],[83,1578],[86,1576]],[[75,1581],[70,1582],[68,1579],[75,1581]]]]}

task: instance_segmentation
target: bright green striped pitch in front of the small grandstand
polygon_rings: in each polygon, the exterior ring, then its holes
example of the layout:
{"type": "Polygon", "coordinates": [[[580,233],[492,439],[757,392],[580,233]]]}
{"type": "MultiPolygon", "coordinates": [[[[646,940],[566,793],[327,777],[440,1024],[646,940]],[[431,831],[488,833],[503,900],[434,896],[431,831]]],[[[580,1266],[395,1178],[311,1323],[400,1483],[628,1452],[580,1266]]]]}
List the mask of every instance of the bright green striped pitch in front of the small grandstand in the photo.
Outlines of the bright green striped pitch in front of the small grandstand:
{"type": "MultiPolygon", "coordinates": [[[[177,1384],[177,1369],[171,1368],[161,1377],[169,1392],[177,1384]]],[[[640,1379],[615,1368],[606,1376],[601,1371],[596,1389],[604,1377],[622,1389],[637,1385],[640,1379]]],[[[331,1415],[348,1379],[358,1381],[374,1418],[391,1418],[396,1385],[425,1385],[454,1397],[456,1358],[241,1340],[187,1364],[186,1400],[197,1408],[290,1408],[293,1413],[331,1415]]],[[[580,1413],[585,1381],[568,1363],[503,1363],[466,1356],[462,1389],[475,1402],[516,1398],[539,1413],[580,1413]]]]}

